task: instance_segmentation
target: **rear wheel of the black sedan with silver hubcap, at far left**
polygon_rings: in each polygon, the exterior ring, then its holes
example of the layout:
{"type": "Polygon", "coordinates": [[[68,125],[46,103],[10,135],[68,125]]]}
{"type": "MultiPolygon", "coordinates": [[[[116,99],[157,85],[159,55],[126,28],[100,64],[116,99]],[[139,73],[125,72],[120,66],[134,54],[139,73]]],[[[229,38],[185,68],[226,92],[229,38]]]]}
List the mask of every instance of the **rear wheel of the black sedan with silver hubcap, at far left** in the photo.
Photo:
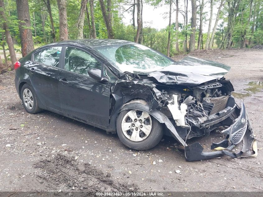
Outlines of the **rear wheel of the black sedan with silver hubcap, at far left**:
{"type": "Polygon", "coordinates": [[[38,106],[37,95],[36,95],[34,89],[29,84],[26,83],[23,85],[20,94],[21,94],[20,96],[21,96],[23,106],[28,113],[36,114],[36,113],[41,111],[41,109],[38,106]],[[25,93],[24,93],[24,91],[25,91],[25,93]],[[30,92],[31,92],[31,94],[30,94],[30,92]],[[26,96],[28,95],[28,96],[26,97],[25,95],[26,96]],[[25,101],[27,98],[29,98],[30,101],[25,101]],[[33,104],[32,104],[32,101],[33,101],[33,104]]]}

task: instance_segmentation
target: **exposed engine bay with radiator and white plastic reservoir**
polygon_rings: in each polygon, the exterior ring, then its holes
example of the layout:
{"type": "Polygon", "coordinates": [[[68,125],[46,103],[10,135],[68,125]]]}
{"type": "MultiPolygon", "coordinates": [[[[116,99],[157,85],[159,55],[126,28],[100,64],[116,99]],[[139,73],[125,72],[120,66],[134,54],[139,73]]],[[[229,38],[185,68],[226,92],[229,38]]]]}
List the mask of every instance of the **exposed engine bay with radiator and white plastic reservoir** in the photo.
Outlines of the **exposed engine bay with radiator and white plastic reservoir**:
{"type": "Polygon", "coordinates": [[[175,128],[183,139],[201,137],[205,133],[210,133],[216,127],[209,122],[214,120],[213,124],[215,124],[218,122],[215,120],[217,117],[221,117],[223,112],[228,113],[228,110],[235,106],[231,90],[220,82],[193,89],[162,89],[161,95],[162,99],[159,98],[158,102],[163,106],[160,110],[169,119],[175,120],[175,128]]]}

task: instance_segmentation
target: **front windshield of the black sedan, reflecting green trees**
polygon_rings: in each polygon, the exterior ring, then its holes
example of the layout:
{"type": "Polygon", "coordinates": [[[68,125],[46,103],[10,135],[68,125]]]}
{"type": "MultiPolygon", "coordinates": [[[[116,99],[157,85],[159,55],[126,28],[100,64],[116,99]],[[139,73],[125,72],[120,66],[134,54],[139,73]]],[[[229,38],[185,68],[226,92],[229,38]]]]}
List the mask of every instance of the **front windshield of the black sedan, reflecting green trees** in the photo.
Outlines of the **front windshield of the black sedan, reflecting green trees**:
{"type": "Polygon", "coordinates": [[[148,73],[174,63],[153,49],[139,44],[105,45],[95,49],[122,72],[148,73]]]}

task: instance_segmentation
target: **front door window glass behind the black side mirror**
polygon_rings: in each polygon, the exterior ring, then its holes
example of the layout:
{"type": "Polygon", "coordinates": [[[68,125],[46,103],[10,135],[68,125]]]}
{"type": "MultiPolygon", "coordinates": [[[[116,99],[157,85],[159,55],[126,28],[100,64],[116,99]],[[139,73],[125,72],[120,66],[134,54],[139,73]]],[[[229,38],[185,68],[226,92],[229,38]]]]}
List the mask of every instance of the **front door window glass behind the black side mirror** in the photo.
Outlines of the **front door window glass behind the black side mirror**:
{"type": "Polygon", "coordinates": [[[66,47],[65,70],[88,76],[89,68],[101,70],[101,63],[81,49],[66,47]]]}

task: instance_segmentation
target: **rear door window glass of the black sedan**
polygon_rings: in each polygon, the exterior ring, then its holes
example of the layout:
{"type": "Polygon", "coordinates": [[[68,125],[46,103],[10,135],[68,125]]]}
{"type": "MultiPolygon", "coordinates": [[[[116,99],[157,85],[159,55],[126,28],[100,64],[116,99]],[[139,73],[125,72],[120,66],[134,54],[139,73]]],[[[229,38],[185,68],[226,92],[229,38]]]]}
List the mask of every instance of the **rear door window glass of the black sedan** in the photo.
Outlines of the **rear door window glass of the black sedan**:
{"type": "Polygon", "coordinates": [[[58,67],[61,49],[62,46],[43,49],[40,52],[34,54],[34,61],[48,66],[58,67]]]}

